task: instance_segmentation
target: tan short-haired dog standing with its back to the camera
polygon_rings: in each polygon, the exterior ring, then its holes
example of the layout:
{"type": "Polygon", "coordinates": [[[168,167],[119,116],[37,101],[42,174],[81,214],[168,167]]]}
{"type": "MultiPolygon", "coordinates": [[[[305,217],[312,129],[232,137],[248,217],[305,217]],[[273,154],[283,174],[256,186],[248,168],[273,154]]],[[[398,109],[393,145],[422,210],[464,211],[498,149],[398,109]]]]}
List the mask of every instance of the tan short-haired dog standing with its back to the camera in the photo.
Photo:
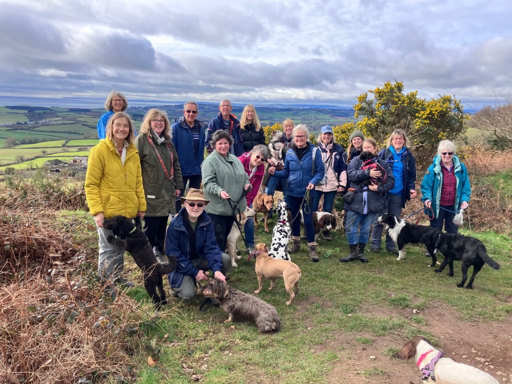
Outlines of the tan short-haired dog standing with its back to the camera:
{"type": "Polygon", "coordinates": [[[291,261],[271,258],[268,255],[268,248],[264,243],[257,244],[254,247],[254,257],[256,258],[254,270],[260,284],[254,293],[261,292],[263,278],[270,280],[270,291],[274,289],[275,279],[283,278],[285,289],[290,294],[290,300],[286,302],[286,305],[293,303],[298,292],[298,281],[301,279],[301,268],[291,261]]]}

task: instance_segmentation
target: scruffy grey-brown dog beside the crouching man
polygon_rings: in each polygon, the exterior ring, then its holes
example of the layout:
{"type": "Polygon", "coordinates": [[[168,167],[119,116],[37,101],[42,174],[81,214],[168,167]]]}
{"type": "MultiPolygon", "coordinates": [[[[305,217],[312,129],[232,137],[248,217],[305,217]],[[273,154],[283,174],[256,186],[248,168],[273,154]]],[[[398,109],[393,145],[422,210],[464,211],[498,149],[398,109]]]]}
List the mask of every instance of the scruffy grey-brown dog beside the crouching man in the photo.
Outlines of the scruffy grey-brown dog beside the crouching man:
{"type": "Polygon", "coordinates": [[[281,319],[274,307],[258,297],[230,287],[222,280],[210,280],[203,288],[203,295],[219,300],[221,308],[229,314],[224,323],[236,318],[256,323],[260,332],[279,331],[281,328],[281,319]]]}

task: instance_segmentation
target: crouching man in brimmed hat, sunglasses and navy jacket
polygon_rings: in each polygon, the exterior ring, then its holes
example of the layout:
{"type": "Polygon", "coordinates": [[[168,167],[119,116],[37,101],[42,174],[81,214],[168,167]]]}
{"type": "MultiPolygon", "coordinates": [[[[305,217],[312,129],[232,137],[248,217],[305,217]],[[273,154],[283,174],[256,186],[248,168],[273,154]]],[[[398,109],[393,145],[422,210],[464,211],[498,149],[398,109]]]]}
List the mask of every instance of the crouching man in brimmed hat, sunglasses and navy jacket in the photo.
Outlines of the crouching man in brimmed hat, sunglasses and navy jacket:
{"type": "Polygon", "coordinates": [[[196,295],[197,282],[208,280],[205,271],[211,270],[214,278],[226,281],[230,260],[215,241],[214,224],[204,212],[210,201],[203,190],[190,188],[180,200],[185,209],[170,222],[165,239],[167,256],[174,255],[178,261],[176,270],[168,275],[169,294],[190,301],[196,295]]]}

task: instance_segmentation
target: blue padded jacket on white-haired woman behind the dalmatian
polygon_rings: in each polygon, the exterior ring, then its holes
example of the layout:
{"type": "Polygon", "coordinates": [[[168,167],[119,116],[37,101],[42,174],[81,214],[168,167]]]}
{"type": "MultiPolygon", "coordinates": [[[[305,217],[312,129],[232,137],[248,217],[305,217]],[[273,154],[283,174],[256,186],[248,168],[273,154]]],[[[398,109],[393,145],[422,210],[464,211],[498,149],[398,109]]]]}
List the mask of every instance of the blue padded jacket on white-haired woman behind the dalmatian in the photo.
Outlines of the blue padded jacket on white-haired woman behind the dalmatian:
{"type": "Polygon", "coordinates": [[[274,176],[279,179],[288,178],[288,195],[294,197],[304,197],[306,187],[309,183],[316,185],[325,175],[324,162],[320,153],[315,157],[315,174],[311,176],[313,168],[313,145],[307,143],[306,153],[299,160],[295,154],[297,147],[293,144],[286,153],[285,167],[283,170],[276,171],[274,176]]]}

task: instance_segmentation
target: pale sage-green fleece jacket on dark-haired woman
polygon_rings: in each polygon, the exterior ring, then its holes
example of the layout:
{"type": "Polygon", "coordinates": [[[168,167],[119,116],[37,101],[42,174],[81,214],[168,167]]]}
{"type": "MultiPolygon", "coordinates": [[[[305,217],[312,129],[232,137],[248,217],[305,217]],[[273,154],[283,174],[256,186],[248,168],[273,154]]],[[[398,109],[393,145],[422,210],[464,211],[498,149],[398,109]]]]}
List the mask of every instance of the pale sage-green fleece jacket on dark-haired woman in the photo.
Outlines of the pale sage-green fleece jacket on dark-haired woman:
{"type": "MultiPolygon", "coordinates": [[[[204,196],[210,200],[204,210],[208,214],[232,216],[233,210],[226,199],[221,198],[221,191],[225,190],[235,202],[240,199],[244,185],[249,184],[249,177],[245,173],[242,162],[234,155],[226,157],[214,150],[201,164],[204,196]]],[[[231,202],[231,204],[234,204],[231,202]]],[[[239,202],[240,211],[247,207],[245,197],[239,202]]]]}

